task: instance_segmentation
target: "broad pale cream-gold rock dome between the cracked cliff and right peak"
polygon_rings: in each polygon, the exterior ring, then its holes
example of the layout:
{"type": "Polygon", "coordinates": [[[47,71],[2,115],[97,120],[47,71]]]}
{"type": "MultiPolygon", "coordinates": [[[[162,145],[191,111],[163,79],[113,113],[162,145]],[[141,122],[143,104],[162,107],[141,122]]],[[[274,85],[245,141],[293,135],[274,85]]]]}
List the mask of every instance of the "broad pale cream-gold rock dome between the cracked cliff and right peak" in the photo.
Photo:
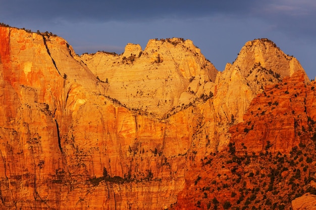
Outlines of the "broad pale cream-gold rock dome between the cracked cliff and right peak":
{"type": "Polygon", "coordinates": [[[208,96],[218,73],[191,40],[181,38],[149,40],[143,51],[128,44],[121,55],[97,52],[81,59],[106,83],[102,94],[159,118],[201,94],[208,96]]]}

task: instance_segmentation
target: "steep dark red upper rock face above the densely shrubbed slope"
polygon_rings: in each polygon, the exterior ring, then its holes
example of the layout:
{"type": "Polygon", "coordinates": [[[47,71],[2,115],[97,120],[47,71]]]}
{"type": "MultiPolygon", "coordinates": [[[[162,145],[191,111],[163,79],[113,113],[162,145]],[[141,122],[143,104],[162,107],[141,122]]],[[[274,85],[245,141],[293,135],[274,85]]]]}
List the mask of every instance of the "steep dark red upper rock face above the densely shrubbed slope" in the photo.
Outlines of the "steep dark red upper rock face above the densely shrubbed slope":
{"type": "Polygon", "coordinates": [[[304,77],[303,72],[296,72],[253,99],[243,122],[230,128],[238,152],[288,154],[308,141],[316,120],[316,93],[315,82],[306,85],[304,77]]]}

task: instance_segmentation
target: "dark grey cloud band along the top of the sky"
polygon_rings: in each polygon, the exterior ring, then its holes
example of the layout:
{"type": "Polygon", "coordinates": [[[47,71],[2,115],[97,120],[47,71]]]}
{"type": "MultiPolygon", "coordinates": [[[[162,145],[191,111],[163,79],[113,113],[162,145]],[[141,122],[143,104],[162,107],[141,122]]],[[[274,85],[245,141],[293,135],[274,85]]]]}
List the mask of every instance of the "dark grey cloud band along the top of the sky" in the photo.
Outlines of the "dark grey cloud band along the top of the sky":
{"type": "Polygon", "coordinates": [[[224,15],[258,18],[293,36],[316,35],[314,0],[3,0],[0,21],[6,23],[150,22],[156,19],[198,19],[224,15]]]}

